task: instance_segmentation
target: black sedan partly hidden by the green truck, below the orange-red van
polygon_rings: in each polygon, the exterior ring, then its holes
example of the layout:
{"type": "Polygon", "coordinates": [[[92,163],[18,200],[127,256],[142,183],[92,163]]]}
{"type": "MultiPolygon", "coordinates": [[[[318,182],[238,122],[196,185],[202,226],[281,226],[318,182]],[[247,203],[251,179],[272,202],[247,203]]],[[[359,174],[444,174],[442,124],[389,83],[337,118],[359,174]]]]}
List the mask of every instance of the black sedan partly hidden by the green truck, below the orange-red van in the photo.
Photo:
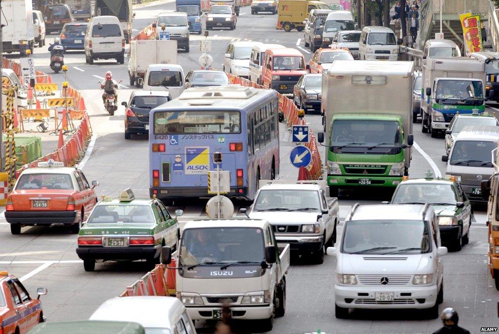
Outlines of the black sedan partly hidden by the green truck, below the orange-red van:
{"type": "Polygon", "coordinates": [[[322,74],[305,74],[293,89],[293,101],[305,113],[308,110],[321,111],[322,74]]]}

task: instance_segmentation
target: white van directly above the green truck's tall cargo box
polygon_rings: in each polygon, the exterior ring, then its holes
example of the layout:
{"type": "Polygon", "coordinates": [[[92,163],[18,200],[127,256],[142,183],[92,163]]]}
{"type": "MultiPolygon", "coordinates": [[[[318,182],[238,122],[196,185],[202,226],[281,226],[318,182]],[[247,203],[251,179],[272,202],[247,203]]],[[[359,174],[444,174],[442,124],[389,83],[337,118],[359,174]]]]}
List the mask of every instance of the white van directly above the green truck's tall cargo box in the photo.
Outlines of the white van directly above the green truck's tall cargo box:
{"type": "Polygon", "coordinates": [[[397,38],[392,29],[368,26],[362,29],[359,42],[360,60],[398,60],[397,38]]]}

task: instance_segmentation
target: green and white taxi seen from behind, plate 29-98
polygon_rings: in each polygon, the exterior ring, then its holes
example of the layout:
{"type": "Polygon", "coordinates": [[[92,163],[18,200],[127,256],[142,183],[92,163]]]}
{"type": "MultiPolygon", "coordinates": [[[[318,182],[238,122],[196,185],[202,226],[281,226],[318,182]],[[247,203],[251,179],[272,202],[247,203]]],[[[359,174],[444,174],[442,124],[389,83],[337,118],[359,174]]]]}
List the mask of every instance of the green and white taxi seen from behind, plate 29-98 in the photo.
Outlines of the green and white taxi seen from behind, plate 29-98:
{"type": "Polygon", "coordinates": [[[131,189],[118,199],[104,197],[96,204],[78,234],[76,254],[87,272],[96,261],[145,259],[150,266],[161,262],[161,247],[176,249],[179,239],[177,216],[172,217],[163,203],[153,198],[135,199],[131,189]]]}

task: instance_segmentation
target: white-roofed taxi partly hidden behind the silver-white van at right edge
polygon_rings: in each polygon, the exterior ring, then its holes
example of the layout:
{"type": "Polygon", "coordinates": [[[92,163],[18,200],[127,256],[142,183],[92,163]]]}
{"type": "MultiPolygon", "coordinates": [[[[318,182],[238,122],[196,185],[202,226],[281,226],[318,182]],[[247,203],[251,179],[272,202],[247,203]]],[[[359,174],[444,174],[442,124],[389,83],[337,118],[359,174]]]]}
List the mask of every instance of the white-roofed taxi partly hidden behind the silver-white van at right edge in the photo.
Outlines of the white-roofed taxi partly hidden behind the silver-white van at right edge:
{"type": "Polygon", "coordinates": [[[465,127],[475,125],[499,126],[499,122],[497,122],[495,115],[491,115],[488,112],[479,114],[478,109],[473,110],[473,113],[471,114],[456,114],[450,121],[448,129],[445,131],[445,151],[447,152],[447,155],[450,153],[450,149],[458,134],[463,131],[465,127]]]}

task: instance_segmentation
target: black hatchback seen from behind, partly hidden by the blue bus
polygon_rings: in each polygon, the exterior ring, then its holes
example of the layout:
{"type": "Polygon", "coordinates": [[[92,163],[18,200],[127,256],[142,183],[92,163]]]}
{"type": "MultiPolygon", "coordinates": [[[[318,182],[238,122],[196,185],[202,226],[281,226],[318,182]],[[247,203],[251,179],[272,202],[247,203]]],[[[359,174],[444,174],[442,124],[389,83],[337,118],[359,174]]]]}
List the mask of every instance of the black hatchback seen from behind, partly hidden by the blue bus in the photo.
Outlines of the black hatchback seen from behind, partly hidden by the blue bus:
{"type": "Polygon", "coordinates": [[[125,106],[125,139],[130,135],[149,133],[149,112],[171,100],[170,94],[165,91],[133,91],[125,106]]]}

